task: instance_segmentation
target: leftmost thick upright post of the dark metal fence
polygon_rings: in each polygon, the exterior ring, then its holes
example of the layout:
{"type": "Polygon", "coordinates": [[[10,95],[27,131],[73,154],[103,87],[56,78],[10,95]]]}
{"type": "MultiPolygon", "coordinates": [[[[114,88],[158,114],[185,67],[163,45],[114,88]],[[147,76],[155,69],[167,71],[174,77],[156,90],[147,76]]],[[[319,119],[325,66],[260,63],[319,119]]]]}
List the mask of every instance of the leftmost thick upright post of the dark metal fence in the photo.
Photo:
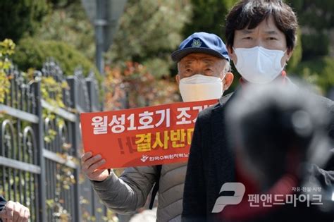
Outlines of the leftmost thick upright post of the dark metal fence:
{"type": "MultiPolygon", "coordinates": [[[[38,73],[40,74],[40,73],[38,73]]],[[[40,77],[37,77],[40,78],[40,77]]],[[[46,209],[46,198],[47,198],[47,191],[45,186],[45,161],[44,161],[44,130],[43,130],[43,112],[42,112],[42,94],[41,94],[41,82],[37,80],[34,83],[34,90],[35,90],[35,98],[36,98],[36,115],[39,117],[39,123],[35,125],[35,132],[36,132],[36,140],[37,140],[37,150],[38,150],[38,163],[41,168],[41,174],[38,177],[38,200],[39,206],[38,207],[38,214],[39,214],[39,221],[47,221],[47,209],[46,209]]]]}

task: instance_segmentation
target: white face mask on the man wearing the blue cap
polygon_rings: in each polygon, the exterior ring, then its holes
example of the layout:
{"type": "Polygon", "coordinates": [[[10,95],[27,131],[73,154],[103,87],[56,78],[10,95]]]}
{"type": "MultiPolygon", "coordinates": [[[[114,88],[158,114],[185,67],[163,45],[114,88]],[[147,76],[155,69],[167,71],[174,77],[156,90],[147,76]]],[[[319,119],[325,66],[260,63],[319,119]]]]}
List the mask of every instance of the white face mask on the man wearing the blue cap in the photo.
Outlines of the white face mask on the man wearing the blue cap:
{"type": "Polygon", "coordinates": [[[179,88],[183,101],[218,99],[223,94],[221,78],[201,74],[181,79],[179,88]]]}

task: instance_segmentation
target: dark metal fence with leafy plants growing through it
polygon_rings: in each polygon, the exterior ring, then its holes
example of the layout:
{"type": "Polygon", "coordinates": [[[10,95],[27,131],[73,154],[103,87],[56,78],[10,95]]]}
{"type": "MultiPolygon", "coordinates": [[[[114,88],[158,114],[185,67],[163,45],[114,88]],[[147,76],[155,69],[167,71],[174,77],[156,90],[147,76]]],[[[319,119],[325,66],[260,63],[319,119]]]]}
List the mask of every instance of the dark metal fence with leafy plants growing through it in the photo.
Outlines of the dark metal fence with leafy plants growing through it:
{"type": "Polygon", "coordinates": [[[79,114],[101,110],[94,75],[76,70],[66,78],[50,60],[31,73],[12,68],[8,78],[0,104],[0,194],[29,207],[31,221],[106,220],[79,162],[79,114]]]}

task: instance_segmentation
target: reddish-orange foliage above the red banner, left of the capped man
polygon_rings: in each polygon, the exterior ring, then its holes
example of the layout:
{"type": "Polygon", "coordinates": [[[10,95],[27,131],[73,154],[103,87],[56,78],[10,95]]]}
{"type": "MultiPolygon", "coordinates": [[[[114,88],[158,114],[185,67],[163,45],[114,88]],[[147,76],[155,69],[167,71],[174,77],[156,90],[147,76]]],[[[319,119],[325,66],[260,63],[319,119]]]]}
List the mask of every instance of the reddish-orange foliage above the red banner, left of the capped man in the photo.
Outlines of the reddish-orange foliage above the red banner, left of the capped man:
{"type": "Polygon", "coordinates": [[[159,79],[140,63],[106,69],[105,109],[129,109],[178,101],[178,87],[169,78],[159,79]]]}

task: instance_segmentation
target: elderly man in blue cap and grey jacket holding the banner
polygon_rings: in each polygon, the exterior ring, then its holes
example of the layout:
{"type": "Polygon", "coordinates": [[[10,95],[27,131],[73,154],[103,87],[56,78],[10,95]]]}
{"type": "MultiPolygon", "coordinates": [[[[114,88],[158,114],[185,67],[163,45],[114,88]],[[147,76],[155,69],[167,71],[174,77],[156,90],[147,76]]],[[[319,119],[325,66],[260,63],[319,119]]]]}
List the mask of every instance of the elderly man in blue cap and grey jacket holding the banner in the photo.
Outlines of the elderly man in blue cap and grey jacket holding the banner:
{"type": "MultiPolygon", "coordinates": [[[[225,44],[214,34],[190,35],[171,57],[178,62],[176,81],[183,101],[219,99],[233,82],[225,44]]],[[[186,163],[127,168],[120,178],[98,170],[104,163],[100,155],[82,156],[82,169],[106,206],[118,213],[133,212],[144,206],[154,183],[159,183],[156,221],[180,221],[186,163]]]]}

